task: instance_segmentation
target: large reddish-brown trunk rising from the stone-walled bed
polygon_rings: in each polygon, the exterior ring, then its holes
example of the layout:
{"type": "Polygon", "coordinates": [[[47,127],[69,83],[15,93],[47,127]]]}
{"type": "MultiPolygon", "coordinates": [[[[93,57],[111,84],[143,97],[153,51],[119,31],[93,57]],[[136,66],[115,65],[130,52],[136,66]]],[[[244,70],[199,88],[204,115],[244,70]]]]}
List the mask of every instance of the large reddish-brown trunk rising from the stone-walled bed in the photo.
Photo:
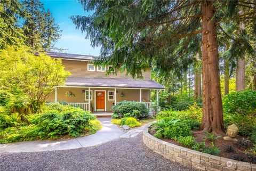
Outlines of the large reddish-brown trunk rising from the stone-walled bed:
{"type": "Polygon", "coordinates": [[[221,134],[224,131],[220,92],[219,54],[215,26],[214,1],[203,1],[202,9],[202,75],[203,121],[201,129],[221,134]]]}

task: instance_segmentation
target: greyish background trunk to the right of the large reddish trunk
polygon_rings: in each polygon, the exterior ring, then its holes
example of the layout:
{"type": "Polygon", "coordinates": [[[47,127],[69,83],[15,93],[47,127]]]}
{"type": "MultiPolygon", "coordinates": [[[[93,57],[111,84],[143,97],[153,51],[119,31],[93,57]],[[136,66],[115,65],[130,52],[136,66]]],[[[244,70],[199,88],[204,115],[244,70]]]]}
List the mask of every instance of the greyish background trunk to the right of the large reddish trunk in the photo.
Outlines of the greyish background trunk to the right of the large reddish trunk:
{"type": "Polygon", "coordinates": [[[245,59],[237,58],[236,91],[245,90],[245,59]]]}

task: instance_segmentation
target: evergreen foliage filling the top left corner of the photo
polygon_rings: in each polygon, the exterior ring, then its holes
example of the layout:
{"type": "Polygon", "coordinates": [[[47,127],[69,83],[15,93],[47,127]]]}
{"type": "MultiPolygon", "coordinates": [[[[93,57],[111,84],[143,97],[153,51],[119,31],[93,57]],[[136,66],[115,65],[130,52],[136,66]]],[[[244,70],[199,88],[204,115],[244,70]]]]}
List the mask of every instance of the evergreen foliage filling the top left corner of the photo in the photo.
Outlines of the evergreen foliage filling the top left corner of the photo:
{"type": "Polygon", "coordinates": [[[0,49],[7,45],[20,45],[25,38],[22,29],[18,26],[18,19],[24,17],[18,0],[2,0],[0,3],[0,49]]]}

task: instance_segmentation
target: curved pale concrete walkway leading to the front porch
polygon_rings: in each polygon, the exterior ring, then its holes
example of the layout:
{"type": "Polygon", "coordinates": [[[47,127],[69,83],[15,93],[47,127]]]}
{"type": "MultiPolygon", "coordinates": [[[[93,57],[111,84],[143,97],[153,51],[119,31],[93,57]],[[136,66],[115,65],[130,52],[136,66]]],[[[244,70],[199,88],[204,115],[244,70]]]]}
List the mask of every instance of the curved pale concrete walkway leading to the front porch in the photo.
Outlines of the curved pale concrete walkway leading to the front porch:
{"type": "Polygon", "coordinates": [[[95,134],[63,141],[43,140],[0,144],[0,153],[77,149],[112,141],[118,139],[122,134],[124,134],[119,127],[111,124],[111,118],[99,118],[99,120],[102,124],[102,129],[95,134]]]}

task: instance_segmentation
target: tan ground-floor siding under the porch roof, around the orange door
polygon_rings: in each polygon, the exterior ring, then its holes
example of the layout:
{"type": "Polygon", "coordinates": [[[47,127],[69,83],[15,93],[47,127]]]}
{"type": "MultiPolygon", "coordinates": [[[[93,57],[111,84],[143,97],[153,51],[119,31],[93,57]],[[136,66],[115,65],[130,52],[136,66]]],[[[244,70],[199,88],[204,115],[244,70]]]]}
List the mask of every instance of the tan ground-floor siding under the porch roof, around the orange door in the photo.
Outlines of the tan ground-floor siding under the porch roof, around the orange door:
{"type": "MultiPolygon", "coordinates": [[[[87,103],[88,101],[85,101],[85,94],[82,93],[82,90],[88,90],[88,88],[66,88],[61,87],[58,88],[57,91],[57,101],[65,101],[68,103],[87,103]],[[73,92],[76,96],[75,97],[69,97],[66,96],[65,93],[67,91],[73,92]]],[[[93,99],[91,100],[91,105],[93,106],[93,110],[95,110],[94,106],[94,100],[95,100],[95,90],[105,90],[106,91],[106,107],[107,111],[111,111],[111,107],[113,106],[113,103],[115,101],[108,100],[108,91],[114,91],[114,88],[90,88],[93,91],[93,99]]],[[[116,93],[116,101],[121,102],[123,100],[126,101],[140,101],[140,90],[139,89],[116,89],[118,93],[116,93]],[[123,97],[121,97],[121,93],[124,94],[123,97]]],[[[142,89],[141,91],[142,99],[145,99],[147,101],[150,101],[150,90],[149,89],[142,89]]],[[[47,102],[54,102],[55,101],[55,92],[53,91],[49,98],[46,100],[47,102]]]]}

